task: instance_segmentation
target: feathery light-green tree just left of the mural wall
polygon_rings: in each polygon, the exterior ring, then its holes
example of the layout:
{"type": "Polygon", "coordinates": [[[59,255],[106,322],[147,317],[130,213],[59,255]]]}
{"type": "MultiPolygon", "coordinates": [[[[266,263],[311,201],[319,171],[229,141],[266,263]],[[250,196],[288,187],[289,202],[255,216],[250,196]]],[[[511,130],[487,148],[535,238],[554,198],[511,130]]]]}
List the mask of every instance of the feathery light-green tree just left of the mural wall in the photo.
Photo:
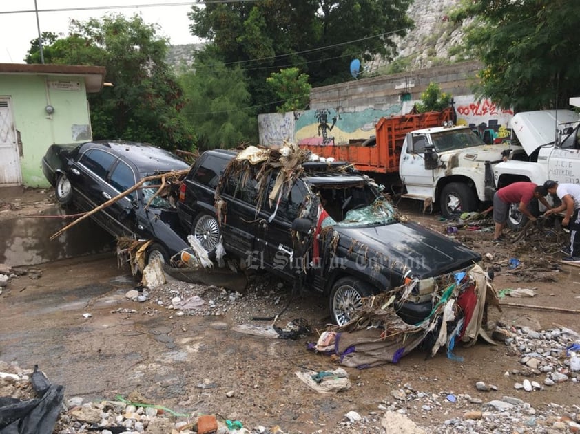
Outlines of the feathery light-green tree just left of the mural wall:
{"type": "Polygon", "coordinates": [[[227,68],[214,56],[196,56],[194,72],[180,76],[183,113],[196,125],[198,149],[229,149],[258,143],[258,122],[248,109],[251,95],[242,69],[227,68]]]}

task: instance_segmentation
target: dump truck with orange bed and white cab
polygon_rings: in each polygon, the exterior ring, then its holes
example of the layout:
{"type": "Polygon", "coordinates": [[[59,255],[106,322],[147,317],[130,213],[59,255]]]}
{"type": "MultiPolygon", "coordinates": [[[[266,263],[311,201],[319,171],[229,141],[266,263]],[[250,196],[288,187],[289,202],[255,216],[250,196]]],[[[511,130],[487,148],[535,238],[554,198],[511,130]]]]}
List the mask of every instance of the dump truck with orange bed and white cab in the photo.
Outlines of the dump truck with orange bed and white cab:
{"type": "Polygon", "coordinates": [[[493,199],[493,167],[511,144],[485,144],[453,125],[453,109],[381,118],[371,138],[349,144],[301,144],[324,158],[348,161],[402,197],[439,206],[449,216],[493,199]]]}

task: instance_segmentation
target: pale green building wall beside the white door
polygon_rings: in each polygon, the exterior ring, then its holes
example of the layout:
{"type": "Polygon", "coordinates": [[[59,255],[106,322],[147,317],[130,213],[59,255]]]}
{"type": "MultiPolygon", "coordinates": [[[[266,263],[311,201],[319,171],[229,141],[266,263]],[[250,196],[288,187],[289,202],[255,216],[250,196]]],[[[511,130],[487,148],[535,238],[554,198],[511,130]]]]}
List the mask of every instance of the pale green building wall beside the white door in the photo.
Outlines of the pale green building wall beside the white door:
{"type": "Polygon", "coordinates": [[[12,118],[21,140],[25,186],[48,186],[41,158],[50,144],[91,140],[85,82],[81,77],[10,74],[0,77],[0,96],[12,102],[12,118]],[[54,113],[45,111],[47,105],[54,113]]]}

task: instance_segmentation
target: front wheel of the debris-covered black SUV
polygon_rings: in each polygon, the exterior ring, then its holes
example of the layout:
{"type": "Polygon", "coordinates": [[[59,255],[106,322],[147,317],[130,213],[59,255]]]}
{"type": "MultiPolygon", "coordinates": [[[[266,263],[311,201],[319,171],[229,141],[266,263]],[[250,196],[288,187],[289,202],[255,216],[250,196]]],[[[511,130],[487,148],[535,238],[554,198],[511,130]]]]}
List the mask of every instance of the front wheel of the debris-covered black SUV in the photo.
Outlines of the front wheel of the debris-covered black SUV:
{"type": "Polygon", "coordinates": [[[330,294],[330,314],[333,323],[345,325],[362,307],[362,299],[373,294],[373,287],[353,277],[336,281],[330,294]]]}

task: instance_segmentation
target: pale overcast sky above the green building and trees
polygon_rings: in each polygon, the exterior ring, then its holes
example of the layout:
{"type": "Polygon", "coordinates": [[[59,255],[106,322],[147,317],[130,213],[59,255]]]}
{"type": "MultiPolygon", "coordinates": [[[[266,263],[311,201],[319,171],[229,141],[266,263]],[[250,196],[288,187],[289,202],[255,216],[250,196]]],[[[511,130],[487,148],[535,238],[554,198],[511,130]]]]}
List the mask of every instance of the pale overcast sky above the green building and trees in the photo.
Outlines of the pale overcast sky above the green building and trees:
{"type": "Polygon", "coordinates": [[[25,63],[24,58],[30,48],[30,41],[38,37],[35,10],[39,11],[38,24],[41,32],[53,32],[63,36],[68,35],[70,19],[86,21],[91,17],[100,18],[111,12],[132,17],[137,13],[141,14],[145,23],[158,24],[160,26],[158,34],[167,36],[172,45],[180,45],[198,41],[189,34],[190,21],[187,18],[187,12],[191,10],[192,3],[193,1],[188,3],[180,0],[92,0],[90,2],[36,0],[35,8],[34,0],[1,0],[0,63],[25,63]],[[119,6],[123,8],[118,8],[119,6]],[[59,9],[67,10],[52,12],[59,9]]]}

